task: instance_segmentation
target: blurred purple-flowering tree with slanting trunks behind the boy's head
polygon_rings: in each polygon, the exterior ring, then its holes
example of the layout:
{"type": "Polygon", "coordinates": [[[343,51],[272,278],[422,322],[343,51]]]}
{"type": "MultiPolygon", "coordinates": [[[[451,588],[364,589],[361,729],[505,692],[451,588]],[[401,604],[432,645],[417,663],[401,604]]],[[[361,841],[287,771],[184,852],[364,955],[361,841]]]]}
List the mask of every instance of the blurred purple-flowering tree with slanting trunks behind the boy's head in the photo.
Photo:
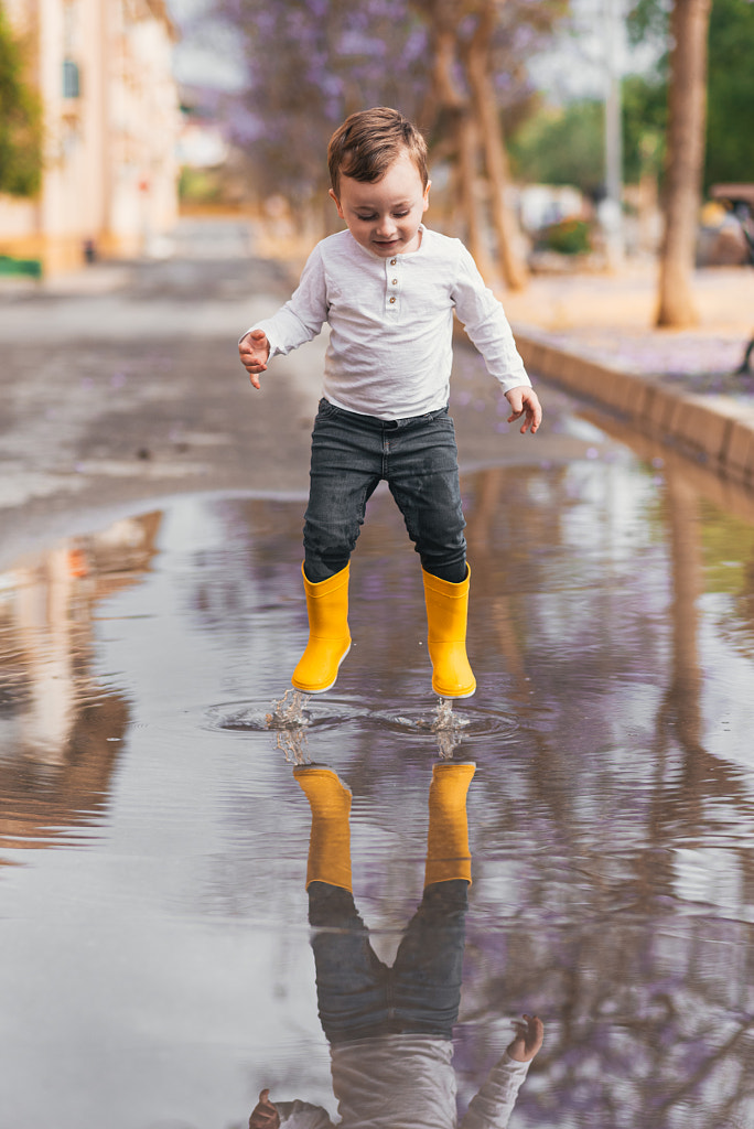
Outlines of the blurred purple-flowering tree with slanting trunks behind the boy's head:
{"type": "Polygon", "coordinates": [[[326,143],[354,110],[392,105],[418,122],[456,167],[466,238],[489,253],[476,192],[481,157],[503,273],[520,286],[507,208],[501,110],[532,96],[526,60],[568,0],[220,0],[240,36],[249,85],[231,107],[261,195],[293,204],[325,186],[326,143]]]}

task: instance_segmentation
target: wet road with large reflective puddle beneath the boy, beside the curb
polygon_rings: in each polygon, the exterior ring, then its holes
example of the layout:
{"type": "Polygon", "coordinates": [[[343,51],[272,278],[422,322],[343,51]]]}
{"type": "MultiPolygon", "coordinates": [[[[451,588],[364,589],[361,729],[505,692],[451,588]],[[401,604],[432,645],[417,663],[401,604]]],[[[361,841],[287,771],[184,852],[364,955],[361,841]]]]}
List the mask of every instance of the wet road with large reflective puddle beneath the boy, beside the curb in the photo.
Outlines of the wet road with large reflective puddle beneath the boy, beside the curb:
{"type": "Polygon", "coordinates": [[[523,439],[459,350],[477,692],[439,710],[418,559],[378,491],[337,684],[275,718],[306,639],[317,357],[254,399],[233,340],[272,299],[210,316],[202,271],[249,278],[211,263],[2,309],[68,330],[41,355],[18,330],[2,386],[1,1129],[231,1129],[263,1087],[336,1120],[293,769],[353,793],[354,899],[391,963],[432,768],[464,760],[459,1110],[535,1012],[511,1126],[751,1129],[752,495],[544,385],[523,439]],[[44,390],[53,419],[19,399],[44,390]]]}

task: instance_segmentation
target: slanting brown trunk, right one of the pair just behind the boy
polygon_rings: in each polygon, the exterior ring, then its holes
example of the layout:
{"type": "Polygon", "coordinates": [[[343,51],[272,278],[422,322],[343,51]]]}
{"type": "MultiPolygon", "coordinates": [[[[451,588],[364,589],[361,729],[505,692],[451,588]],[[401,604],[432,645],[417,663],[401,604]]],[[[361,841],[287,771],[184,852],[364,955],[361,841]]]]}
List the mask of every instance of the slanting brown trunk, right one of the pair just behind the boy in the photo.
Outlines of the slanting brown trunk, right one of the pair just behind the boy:
{"type": "Polygon", "coordinates": [[[490,73],[489,43],[494,30],[494,5],[488,2],[465,53],[465,68],[474,103],[474,116],[482,135],[482,148],[490,183],[490,210],[498,243],[498,257],[506,285],[511,290],[523,290],[528,283],[528,271],[516,247],[518,230],[506,190],[510,184],[508,154],[502,139],[494,85],[490,73]]]}

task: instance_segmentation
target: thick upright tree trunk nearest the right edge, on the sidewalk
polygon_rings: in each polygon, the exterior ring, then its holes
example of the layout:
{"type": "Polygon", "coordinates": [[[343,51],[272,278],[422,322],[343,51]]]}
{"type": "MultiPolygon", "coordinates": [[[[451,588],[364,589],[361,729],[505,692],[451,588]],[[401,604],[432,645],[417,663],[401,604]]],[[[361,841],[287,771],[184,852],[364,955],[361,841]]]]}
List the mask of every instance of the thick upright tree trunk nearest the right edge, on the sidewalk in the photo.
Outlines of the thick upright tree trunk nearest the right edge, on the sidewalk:
{"type": "Polygon", "coordinates": [[[665,239],[660,254],[657,324],[699,321],[691,278],[701,203],[707,116],[707,34],[712,0],[675,0],[670,16],[665,239]]]}

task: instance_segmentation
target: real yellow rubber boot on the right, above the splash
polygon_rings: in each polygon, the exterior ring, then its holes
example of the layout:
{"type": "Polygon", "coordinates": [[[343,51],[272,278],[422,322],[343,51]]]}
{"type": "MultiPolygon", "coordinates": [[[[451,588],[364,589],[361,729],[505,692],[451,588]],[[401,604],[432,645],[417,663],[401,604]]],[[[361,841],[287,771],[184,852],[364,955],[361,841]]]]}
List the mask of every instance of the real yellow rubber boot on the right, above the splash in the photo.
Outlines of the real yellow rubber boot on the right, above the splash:
{"type": "Polygon", "coordinates": [[[422,569],[427,603],[427,644],[432,660],[432,690],[440,698],[471,698],[476,679],[466,656],[466,619],[471,569],[461,584],[440,580],[422,569]]]}

